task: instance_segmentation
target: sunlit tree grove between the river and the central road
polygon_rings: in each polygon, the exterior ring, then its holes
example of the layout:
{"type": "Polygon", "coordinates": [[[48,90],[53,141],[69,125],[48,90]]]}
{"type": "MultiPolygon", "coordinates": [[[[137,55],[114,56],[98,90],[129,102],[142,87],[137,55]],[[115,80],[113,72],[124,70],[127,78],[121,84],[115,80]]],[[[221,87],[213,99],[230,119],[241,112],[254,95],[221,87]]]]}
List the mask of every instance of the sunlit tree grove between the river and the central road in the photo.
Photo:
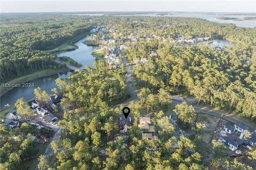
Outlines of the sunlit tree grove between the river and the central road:
{"type": "Polygon", "coordinates": [[[85,69],[86,73],[76,71],[67,79],[55,80],[65,96],[62,107],[91,113],[106,110],[128,97],[124,68],[110,70],[104,61],[95,61],[92,69],[85,69]]]}

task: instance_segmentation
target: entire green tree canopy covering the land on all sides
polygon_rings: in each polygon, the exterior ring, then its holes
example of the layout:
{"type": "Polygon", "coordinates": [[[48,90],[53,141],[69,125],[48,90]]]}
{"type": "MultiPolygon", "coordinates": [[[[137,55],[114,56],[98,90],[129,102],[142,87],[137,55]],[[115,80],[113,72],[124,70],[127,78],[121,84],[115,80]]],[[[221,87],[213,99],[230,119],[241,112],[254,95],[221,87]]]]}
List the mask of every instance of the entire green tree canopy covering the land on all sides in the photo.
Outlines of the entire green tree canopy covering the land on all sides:
{"type": "MultiPolygon", "coordinates": [[[[117,48],[123,44],[127,47],[118,52],[120,68],[109,69],[105,61],[95,61],[93,68],[85,66],[67,79],[56,80],[64,96],[63,117],[58,122],[62,134],[60,140],[51,143],[54,154],[39,157],[39,169],[253,169],[230,157],[222,142],[203,138],[204,124],[196,122],[193,106],[181,103],[173,109],[180,127],[191,131],[180,137],[174,135],[175,128],[164,111],[171,103],[171,94],[185,94],[195,96],[198,104],[226,108],[255,121],[256,28],[196,18],[58,13],[6,14],[0,28],[1,81],[29,71],[58,67],[55,56],[43,50],[57,47],[91,28],[100,28],[91,36],[95,41],[100,42],[103,35],[108,35],[116,40],[117,48]],[[181,37],[230,39],[236,46],[216,50],[207,43],[177,43],[181,37]],[[129,104],[133,116],[129,137],[115,138],[119,133],[121,103],[129,98],[131,85],[125,81],[127,72],[122,55],[132,65],[134,83],[140,91],[139,99],[129,104]],[[135,62],[142,59],[145,62],[135,62]],[[141,138],[138,119],[144,108],[146,114],[153,115],[156,139],[141,138]],[[129,140],[127,146],[125,140],[129,140]]],[[[36,91],[36,98],[47,99],[46,92],[40,97],[40,89],[36,91]]],[[[25,117],[33,115],[22,103],[26,102],[19,99],[15,105],[18,112],[26,112],[25,117]]],[[[27,126],[23,124],[21,128],[27,126]]],[[[5,154],[0,167],[19,169],[30,159],[28,153],[35,155],[36,142],[26,140],[30,134],[21,128],[0,128],[4,135],[1,152],[5,154]],[[9,141],[13,134],[19,135],[16,131],[21,132],[22,139],[12,148],[9,141]],[[25,140],[26,145],[22,142],[25,140]]],[[[255,155],[255,148],[246,153],[250,165],[256,164],[255,155]]]]}

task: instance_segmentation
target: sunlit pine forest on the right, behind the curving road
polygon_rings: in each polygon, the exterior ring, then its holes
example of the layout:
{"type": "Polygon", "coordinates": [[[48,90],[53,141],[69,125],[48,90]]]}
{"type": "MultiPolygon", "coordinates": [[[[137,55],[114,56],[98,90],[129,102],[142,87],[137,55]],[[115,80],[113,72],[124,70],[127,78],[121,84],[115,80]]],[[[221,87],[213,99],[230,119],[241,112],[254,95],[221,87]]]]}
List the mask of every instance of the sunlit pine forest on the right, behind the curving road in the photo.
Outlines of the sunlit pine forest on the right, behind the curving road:
{"type": "MultiPolygon", "coordinates": [[[[127,57],[132,61],[151,53],[150,44],[146,46],[128,49],[127,57]]],[[[141,87],[165,87],[177,93],[186,89],[198,103],[203,101],[255,120],[255,53],[247,56],[246,50],[244,54],[241,49],[227,50],[229,53],[207,46],[160,47],[155,49],[157,56],[148,57],[149,62],[135,67],[133,73],[141,87]]]]}

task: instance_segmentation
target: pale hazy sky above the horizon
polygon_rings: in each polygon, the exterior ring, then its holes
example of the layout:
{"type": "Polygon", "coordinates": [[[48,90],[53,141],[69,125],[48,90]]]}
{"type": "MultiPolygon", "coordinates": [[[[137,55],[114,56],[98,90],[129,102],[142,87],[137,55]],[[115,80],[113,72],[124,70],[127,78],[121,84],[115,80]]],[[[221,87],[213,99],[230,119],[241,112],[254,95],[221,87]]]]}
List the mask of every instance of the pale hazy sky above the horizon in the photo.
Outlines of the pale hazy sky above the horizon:
{"type": "Polygon", "coordinates": [[[0,0],[1,12],[195,11],[256,12],[256,0],[23,1],[0,0]]]}

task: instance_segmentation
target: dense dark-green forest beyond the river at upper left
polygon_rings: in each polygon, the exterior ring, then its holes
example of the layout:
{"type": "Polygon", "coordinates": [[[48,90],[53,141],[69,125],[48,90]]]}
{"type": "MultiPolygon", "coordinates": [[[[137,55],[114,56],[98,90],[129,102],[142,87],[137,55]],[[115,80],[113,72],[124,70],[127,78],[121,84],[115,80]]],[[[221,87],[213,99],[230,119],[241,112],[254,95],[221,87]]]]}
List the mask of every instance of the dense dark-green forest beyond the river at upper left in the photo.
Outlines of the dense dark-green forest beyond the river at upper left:
{"type": "Polygon", "coordinates": [[[42,50],[52,49],[91,29],[87,19],[66,20],[59,15],[1,16],[1,81],[37,70],[60,68],[55,56],[42,50]]]}

